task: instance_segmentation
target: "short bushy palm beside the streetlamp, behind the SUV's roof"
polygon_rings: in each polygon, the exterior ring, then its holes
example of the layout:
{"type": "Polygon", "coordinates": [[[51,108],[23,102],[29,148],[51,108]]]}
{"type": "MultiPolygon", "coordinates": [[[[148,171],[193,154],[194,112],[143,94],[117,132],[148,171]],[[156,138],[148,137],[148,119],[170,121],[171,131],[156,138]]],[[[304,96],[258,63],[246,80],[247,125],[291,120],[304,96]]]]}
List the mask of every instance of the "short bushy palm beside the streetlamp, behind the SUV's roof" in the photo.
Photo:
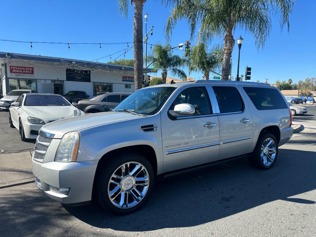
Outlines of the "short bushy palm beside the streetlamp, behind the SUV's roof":
{"type": "Polygon", "coordinates": [[[222,67],[223,47],[219,44],[207,50],[204,43],[197,44],[185,51],[185,62],[191,71],[204,73],[203,79],[209,80],[210,72],[217,72],[222,67]]]}

